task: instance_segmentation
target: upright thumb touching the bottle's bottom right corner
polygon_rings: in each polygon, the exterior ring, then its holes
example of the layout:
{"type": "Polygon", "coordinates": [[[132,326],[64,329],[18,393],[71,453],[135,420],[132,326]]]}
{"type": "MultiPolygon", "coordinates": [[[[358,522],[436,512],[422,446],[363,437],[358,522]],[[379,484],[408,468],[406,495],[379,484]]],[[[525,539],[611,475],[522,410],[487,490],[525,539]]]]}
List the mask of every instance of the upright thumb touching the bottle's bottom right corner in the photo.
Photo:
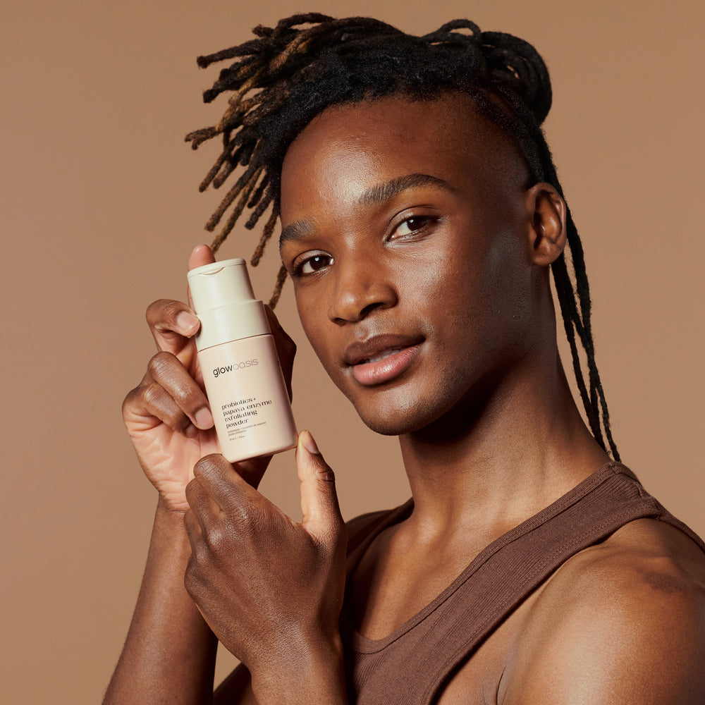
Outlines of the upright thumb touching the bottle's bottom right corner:
{"type": "Polygon", "coordinates": [[[343,527],[336,476],[309,431],[299,434],[296,470],[301,482],[302,524],[312,536],[328,539],[343,527]]]}

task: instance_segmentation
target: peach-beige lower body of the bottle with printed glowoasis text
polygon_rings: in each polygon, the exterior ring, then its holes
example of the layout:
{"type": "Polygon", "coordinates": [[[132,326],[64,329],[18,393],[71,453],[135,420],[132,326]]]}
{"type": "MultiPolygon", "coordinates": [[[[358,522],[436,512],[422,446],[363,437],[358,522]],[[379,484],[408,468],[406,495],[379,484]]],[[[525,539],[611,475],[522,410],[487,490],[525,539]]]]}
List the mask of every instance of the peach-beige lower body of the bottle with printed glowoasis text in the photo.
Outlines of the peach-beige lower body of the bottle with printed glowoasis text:
{"type": "Polygon", "coordinates": [[[293,448],[298,434],[272,336],[198,353],[223,455],[230,462],[293,448]]]}

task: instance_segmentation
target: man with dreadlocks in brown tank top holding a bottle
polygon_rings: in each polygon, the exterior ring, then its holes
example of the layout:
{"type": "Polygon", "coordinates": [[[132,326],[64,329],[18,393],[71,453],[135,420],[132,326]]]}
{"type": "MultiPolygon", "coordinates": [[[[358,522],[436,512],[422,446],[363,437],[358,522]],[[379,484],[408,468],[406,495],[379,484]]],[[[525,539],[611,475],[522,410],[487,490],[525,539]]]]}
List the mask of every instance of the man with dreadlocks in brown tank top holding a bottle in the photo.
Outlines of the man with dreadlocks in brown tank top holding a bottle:
{"type": "MultiPolygon", "coordinates": [[[[238,194],[253,224],[273,204],[258,253],[280,217],[307,337],[363,421],[399,436],[412,501],[346,532],[304,431],[304,518],[285,517],[255,489],[266,460],[218,455],[197,319],[156,302],[160,352],[124,415],[159,508],[106,701],[209,701],[217,637],[244,664],[217,702],[701,702],[705,546],[618,462],[540,57],[472,23],[419,39],[312,15],[257,34],[202,62],[246,56],[207,94],[235,90],[226,116],[192,135],[223,134],[207,180],[245,166],[211,225],[238,194]]],[[[190,266],[210,261],[198,247],[190,266]]]]}

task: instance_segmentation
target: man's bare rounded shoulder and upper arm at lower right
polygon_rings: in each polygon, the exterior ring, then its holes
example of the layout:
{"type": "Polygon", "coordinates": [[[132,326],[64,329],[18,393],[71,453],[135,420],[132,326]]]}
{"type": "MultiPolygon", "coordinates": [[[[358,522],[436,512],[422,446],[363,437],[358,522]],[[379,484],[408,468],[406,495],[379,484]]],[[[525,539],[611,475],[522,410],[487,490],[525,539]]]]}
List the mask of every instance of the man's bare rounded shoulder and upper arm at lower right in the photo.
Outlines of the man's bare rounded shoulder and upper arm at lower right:
{"type": "Polygon", "coordinates": [[[515,640],[503,705],[705,702],[705,553],[643,519],[568,560],[515,640]]]}

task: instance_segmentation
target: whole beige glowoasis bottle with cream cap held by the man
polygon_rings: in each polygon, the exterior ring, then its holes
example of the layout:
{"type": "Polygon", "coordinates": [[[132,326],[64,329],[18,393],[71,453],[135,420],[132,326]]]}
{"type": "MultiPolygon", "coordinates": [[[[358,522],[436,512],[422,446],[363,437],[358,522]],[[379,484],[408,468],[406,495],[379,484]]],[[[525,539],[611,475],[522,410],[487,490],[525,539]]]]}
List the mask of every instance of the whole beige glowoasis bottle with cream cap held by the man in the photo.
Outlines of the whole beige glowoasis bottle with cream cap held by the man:
{"type": "Polygon", "coordinates": [[[201,321],[198,361],[223,455],[230,462],[294,448],[297,431],[274,338],[244,259],[188,273],[201,321]]]}

